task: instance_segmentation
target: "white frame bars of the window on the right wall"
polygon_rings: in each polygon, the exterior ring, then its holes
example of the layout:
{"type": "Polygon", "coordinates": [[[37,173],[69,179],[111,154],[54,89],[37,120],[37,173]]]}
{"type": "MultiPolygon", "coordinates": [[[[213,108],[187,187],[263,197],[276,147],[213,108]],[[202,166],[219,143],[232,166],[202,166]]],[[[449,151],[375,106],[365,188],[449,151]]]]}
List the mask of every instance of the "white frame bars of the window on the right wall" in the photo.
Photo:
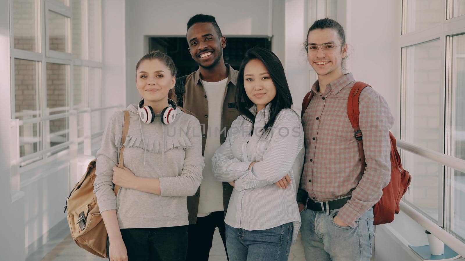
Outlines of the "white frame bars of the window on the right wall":
{"type": "MultiPolygon", "coordinates": [[[[404,139],[406,136],[405,130],[405,122],[408,118],[406,112],[409,111],[407,104],[412,104],[408,101],[413,97],[408,96],[408,88],[410,87],[406,82],[406,72],[409,62],[407,61],[407,53],[406,47],[415,46],[421,43],[426,43],[432,41],[434,39],[439,39],[441,41],[441,48],[438,52],[441,52],[441,89],[443,91],[443,144],[444,149],[440,151],[446,155],[452,155],[452,147],[451,144],[451,121],[452,121],[452,38],[454,36],[458,36],[465,33],[465,15],[452,17],[452,0],[444,0],[442,1],[441,8],[444,12],[441,12],[441,22],[431,28],[427,28],[424,30],[413,31],[410,33],[404,33],[407,29],[407,15],[408,11],[408,0],[402,1],[402,34],[400,35],[400,45],[399,50],[401,51],[401,88],[400,88],[400,97],[401,97],[401,105],[400,105],[400,135],[401,139],[404,139]],[[407,9],[406,9],[407,8],[407,9]]],[[[412,104],[413,105],[413,104],[412,104]]],[[[407,162],[409,155],[405,154],[405,151],[401,150],[402,159],[407,162]]],[[[439,182],[439,191],[438,191],[438,202],[439,202],[439,209],[438,209],[438,222],[432,220],[430,216],[426,215],[424,211],[417,208],[413,203],[405,201],[406,196],[404,196],[403,200],[412,208],[418,210],[420,213],[425,215],[428,219],[436,222],[438,226],[443,227],[449,233],[457,236],[462,241],[465,242],[465,238],[457,235],[451,230],[451,213],[452,213],[452,194],[453,193],[453,184],[452,184],[452,176],[454,175],[454,170],[450,167],[444,166],[443,167],[443,175],[439,175],[438,182],[439,182]],[[451,191],[452,190],[452,191],[451,191]]],[[[410,193],[410,191],[409,191],[410,193]]],[[[413,192],[414,193],[414,192],[413,192]]]]}

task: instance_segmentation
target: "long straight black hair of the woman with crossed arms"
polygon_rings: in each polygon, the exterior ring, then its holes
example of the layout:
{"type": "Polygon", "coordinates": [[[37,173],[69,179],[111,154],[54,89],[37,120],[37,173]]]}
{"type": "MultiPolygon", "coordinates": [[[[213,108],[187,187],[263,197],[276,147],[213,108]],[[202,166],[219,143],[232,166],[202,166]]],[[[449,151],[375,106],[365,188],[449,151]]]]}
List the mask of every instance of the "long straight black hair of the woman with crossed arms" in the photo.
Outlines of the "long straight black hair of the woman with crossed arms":
{"type": "Polygon", "coordinates": [[[287,85],[286,74],[276,54],[261,47],[249,49],[242,60],[239,76],[237,78],[236,109],[244,119],[252,123],[251,134],[253,134],[253,126],[255,125],[255,115],[249,111],[249,108],[252,107],[254,103],[249,99],[244,88],[244,69],[248,62],[255,59],[261,61],[265,65],[276,87],[276,96],[270,102],[269,119],[263,127],[263,131],[266,132],[273,126],[279,111],[291,108],[292,106],[291,91],[289,90],[289,85],[287,85]]]}

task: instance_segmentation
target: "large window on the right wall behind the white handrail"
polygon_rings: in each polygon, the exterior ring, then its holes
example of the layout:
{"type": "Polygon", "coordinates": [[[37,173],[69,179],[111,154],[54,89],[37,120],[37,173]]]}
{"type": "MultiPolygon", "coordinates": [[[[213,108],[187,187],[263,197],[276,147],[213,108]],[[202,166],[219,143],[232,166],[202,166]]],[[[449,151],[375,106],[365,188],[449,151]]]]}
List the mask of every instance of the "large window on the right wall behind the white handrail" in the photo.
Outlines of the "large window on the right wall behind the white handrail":
{"type": "MultiPolygon", "coordinates": [[[[465,159],[463,0],[404,0],[401,138],[465,159]]],[[[465,241],[465,173],[402,151],[412,183],[404,200],[465,241]]]]}

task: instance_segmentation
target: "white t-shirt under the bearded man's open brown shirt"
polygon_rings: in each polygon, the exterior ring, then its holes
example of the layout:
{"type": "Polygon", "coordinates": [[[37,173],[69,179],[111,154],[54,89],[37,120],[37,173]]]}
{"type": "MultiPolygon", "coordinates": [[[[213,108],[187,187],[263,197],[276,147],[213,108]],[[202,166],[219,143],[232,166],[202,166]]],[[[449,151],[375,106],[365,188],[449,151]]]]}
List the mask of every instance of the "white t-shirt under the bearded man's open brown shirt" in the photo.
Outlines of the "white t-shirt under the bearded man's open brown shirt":
{"type": "Polygon", "coordinates": [[[227,80],[228,78],[225,78],[215,83],[201,80],[208,101],[208,130],[204,151],[205,168],[203,169],[203,179],[200,184],[197,217],[204,217],[210,215],[212,212],[224,210],[223,185],[221,182],[216,181],[213,176],[212,157],[220,146],[219,133],[221,131],[221,112],[227,80]]]}

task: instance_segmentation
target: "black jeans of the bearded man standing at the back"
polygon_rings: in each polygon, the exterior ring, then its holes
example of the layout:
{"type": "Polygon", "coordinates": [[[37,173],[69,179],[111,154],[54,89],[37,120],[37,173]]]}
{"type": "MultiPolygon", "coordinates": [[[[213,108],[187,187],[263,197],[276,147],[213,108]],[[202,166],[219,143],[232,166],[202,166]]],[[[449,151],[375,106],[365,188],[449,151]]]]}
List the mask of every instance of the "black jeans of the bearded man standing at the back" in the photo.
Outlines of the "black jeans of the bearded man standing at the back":
{"type": "Polygon", "coordinates": [[[225,214],[223,211],[212,212],[210,215],[198,217],[197,224],[189,224],[187,261],[208,261],[215,228],[218,228],[226,251],[225,214]]]}

